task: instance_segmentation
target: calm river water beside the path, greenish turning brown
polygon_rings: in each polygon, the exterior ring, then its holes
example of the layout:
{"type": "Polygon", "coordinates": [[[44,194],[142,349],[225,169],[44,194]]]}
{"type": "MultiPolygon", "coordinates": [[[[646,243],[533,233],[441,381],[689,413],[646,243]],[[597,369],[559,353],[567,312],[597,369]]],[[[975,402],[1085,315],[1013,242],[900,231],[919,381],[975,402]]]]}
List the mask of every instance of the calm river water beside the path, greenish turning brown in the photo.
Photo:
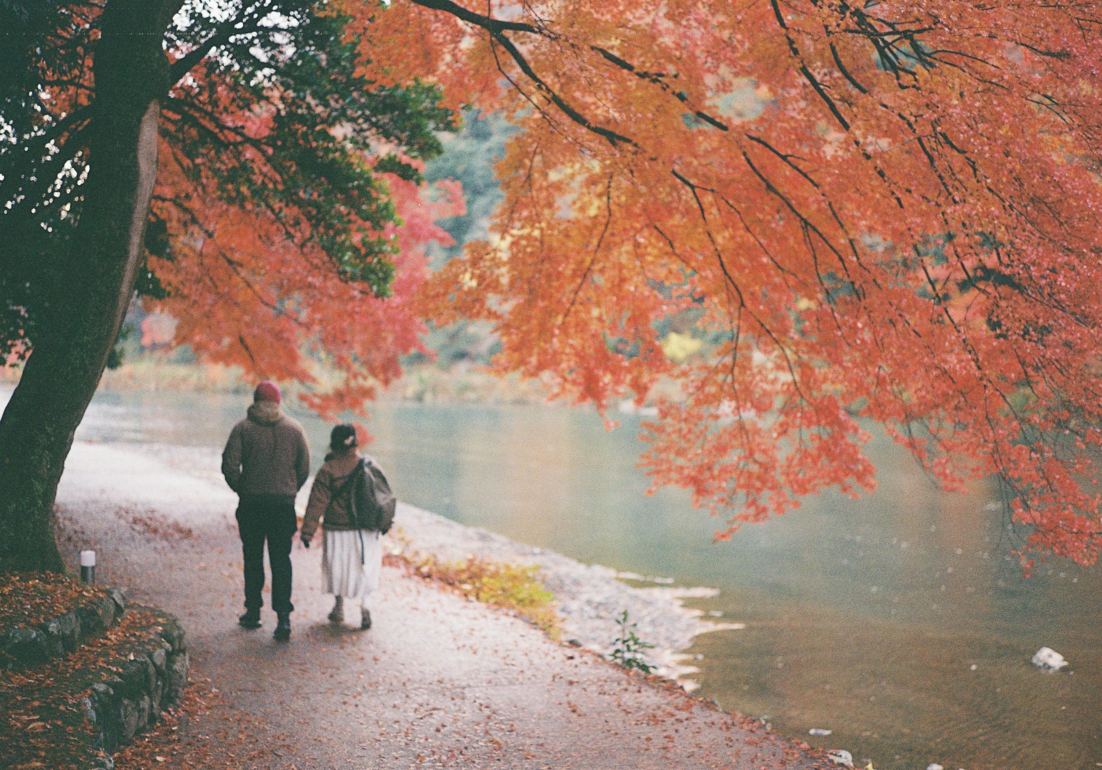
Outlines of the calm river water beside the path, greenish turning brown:
{"type": "MultiPolygon", "coordinates": [[[[220,446],[237,396],[97,396],[79,438],[220,446]]],[[[298,415],[316,458],[327,426],[298,415]]],[[[712,544],[719,522],[644,495],[637,420],[543,407],[381,406],[371,452],[399,495],[464,524],[622,570],[721,589],[746,623],[699,637],[701,694],[864,767],[1071,770],[1102,762],[1102,570],[1024,579],[993,490],[938,492],[889,441],[878,491],[836,494],[712,544]],[[1071,661],[1029,663],[1041,645],[1071,661]],[[1070,670],[1070,671],[1069,671],[1070,670]],[[833,730],[828,738],[812,727],[833,730]]]]}

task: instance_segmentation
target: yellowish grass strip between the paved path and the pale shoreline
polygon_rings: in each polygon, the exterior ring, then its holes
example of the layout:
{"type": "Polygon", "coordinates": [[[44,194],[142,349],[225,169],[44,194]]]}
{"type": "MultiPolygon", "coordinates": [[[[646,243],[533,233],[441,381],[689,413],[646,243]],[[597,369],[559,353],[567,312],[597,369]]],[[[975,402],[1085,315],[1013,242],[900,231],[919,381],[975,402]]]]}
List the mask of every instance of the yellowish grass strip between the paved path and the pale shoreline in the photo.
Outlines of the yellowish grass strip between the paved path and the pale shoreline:
{"type": "Polygon", "coordinates": [[[410,555],[407,550],[390,553],[387,560],[426,580],[442,582],[469,599],[516,612],[552,639],[559,639],[554,593],[540,582],[539,566],[499,564],[479,557],[443,562],[424,554],[410,555]]]}

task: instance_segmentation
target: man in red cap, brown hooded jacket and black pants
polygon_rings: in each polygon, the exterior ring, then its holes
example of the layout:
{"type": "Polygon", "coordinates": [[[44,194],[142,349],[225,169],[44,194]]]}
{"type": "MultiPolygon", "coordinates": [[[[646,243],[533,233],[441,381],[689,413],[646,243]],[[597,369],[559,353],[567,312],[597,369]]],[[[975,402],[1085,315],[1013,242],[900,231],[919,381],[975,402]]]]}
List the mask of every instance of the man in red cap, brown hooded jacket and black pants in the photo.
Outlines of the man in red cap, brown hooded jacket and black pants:
{"type": "Polygon", "coordinates": [[[245,554],[245,614],[238,622],[260,628],[264,587],[264,541],[272,570],[276,639],[291,638],[291,538],[298,530],[294,495],[310,475],[310,447],[302,426],[280,409],[276,383],[257,385],[248,417],[229,434],[222,474],[237,492],[237,530],[245,554]]]}

